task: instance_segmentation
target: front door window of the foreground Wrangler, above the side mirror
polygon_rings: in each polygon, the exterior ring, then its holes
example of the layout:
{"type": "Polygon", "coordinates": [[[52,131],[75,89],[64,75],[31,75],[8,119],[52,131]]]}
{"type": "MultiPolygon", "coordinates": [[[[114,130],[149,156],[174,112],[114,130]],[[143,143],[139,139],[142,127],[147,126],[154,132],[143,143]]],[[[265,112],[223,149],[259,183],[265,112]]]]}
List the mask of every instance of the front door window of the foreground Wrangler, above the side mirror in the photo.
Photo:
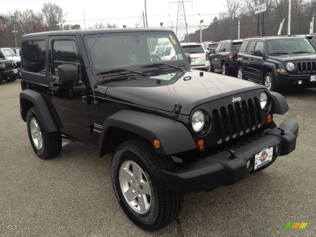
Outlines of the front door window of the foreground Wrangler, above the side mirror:
{"type": "Polygon", "coordinates": [[[80,65],[76,43],[73,40],[53,41],[53,74],[58,75],[58,66],[64,64],[80,65]]]}

